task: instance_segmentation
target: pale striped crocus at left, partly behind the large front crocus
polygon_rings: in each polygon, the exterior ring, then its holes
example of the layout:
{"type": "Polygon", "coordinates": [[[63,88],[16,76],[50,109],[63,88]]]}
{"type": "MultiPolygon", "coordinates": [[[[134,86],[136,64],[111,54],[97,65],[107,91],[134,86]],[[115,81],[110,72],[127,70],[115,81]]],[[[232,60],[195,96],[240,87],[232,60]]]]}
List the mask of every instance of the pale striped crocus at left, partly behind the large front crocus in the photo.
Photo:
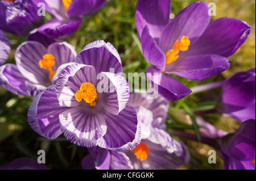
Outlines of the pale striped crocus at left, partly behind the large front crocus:
{"type": "Polygon", "coordinates": [[[57,68],[75,57],[75,48],[66,42],[44,47],[36,41],[25,41],[15,51],[16,65],[0,67],[0,85],[14,94],[35,97],[52,85],[57,68]]]}

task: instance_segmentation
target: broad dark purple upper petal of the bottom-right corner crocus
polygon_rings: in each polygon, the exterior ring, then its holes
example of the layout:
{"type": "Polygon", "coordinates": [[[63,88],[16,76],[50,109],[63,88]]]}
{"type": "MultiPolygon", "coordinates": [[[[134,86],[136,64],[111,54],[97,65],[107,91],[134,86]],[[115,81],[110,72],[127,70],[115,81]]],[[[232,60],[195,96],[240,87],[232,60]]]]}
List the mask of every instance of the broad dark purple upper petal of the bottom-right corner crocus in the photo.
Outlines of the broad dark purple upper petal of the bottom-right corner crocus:
{"type": "Polygon", "coordinates": [[[221,151],[240,161],[255,160],[255,120],[246,120],[233,134],[220,140],[221,151]]]}

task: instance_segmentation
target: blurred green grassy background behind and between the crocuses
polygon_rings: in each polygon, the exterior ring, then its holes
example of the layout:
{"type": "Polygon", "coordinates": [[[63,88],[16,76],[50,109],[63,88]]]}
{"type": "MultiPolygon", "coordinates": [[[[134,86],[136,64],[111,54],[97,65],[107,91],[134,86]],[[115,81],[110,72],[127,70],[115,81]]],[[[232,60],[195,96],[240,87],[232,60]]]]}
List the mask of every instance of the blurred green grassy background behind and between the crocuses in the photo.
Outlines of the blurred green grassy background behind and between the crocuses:
{"type": "MultiPolygon", "coordinates": [[[[177,15],[192,2],[195,1],[172,1],[172,13],[177,15]]],[[[231,65],[224,73],[205,81],[188,81],[176,77],[188,87],[223,80],[237,71],[247,70],[255,66],[255,1],[211,0],[207,2],[214,2],[217,6],[217,16],[213,16],[212,20],[223,16],[241,19],[251,26],[251,33],[242,47],[229,57],[231,65]]],[[[74,45],[77,53],[92,41],[109,41],[118,50],[126,75],[129,72],[145,72],[150,64],[143,57],[137,35],[134,20],[136,3],[137,0],[107,1],[100,11],[85,18],[79,31],[63,41],[74,45]]],[[[47,14],[46,20],[49,18],[51,16],[47,14]]],[[[10,34],[8,36],[12,50],[7,63],[15,64],[15,49],[20,43],[26,41],[26,37],[10,34]]],[[[216,103],[219,92],[220,89],[215,89],[201,94],[188,95],[182,101],[193,110],[204,102],[216,103]]],[[[43,149],[46,151],[46,163],[52,169],[80,169],[82,158],[88,154],[86,148],[73,145],[63,135],[56,140],[48,140],[35,133],[27,123],[27,111],[31,102],[32,98],[14,95],[0,86],[0,166],[15,158],[37,158],[37,151],[43,149]]],[[[182,122],[188,119],[179,102],[170,103],[169,114],[168,128],[186,131],[184,127],[179,127],[179,125],[183,125],[179,123],[180,120],[182,122]]],[[[217,128],[228,132],[234,132],[240,125],[238,121],[218,113],[209,113],[203,115],[203,118],[217,128]]],[[[212,149],[210,146],[196,141],[183,141],[191,153],[191,161],[180,169],[223,169],[223,161],[219,156],[216,164],[208,163],[208,150],[212,149]]]]}

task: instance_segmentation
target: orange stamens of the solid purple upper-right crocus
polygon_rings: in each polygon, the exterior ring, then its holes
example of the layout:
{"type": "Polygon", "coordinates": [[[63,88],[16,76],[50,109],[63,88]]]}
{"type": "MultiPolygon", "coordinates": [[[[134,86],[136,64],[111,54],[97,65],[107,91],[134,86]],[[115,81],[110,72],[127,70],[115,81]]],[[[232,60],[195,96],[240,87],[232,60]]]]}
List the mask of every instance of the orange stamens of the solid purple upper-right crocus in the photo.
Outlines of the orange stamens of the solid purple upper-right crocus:
{"type": "Polygon", "coordinates": [[[177,40],[174,44],[174,49],[169,50],[166,53],[166,65],[171,64],[171,62],[174,62],[179,58],[178,54],[179,51],[185,51],[188,50],[188,46],[190,45],[190,41],[187,36],[183,36],[180,40],[177,40]]]}

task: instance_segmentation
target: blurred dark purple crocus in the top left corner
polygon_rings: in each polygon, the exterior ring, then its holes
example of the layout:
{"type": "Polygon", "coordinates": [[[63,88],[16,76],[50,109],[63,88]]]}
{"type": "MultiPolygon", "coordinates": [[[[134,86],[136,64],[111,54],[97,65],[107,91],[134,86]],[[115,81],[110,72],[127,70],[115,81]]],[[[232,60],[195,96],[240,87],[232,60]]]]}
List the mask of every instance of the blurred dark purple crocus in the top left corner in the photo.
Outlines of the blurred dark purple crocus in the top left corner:
{"type": "Polygon", "coordinates": [[[24,36],[43,23],[32,0],[0,1],[0,30],[24,36]]]}

